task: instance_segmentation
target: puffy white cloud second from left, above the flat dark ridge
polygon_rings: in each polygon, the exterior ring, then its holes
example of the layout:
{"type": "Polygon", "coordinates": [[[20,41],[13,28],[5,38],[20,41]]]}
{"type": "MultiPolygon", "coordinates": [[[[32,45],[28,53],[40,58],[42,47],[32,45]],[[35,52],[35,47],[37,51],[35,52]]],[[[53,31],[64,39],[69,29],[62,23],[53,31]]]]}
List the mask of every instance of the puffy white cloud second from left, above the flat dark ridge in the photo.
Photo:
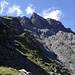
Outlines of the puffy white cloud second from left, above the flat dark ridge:
{"type": "Polygon", "coordinates": [[[22,10],[20,9],[20,6],[13,5],[12,7],[8,8],[7,14],[16,14],[17,16],[23,15],[22,10]]]}

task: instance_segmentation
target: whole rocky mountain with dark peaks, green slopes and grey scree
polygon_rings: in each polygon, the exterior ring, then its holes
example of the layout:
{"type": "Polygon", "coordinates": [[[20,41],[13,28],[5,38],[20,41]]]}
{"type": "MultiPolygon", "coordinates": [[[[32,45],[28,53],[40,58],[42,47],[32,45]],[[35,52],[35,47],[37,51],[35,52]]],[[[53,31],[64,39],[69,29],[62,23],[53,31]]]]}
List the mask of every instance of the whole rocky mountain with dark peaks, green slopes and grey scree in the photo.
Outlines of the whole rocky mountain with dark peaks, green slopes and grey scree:
{"type": "Polygon", "coordinates": [[[36,13],[30,18],[1,16],[0,66],[32,75],[73,75],[74,40],[70,28],[36,13]]]}

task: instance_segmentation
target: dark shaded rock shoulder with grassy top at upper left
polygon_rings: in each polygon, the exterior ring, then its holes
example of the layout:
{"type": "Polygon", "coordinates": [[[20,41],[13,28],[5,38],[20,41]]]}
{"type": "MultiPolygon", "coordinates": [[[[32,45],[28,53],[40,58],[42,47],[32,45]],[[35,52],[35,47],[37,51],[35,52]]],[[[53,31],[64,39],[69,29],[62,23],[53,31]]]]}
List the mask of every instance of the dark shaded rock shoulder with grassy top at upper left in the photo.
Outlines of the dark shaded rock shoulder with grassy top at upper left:
{"type": "Polygon", "coordinates": [[[10,31],[14,34],[20,34],[23,32],[23,27],[20,24],[20,21],[16,17],[0,17],[0,21],[5,23],[9,28],[10,31]]]}

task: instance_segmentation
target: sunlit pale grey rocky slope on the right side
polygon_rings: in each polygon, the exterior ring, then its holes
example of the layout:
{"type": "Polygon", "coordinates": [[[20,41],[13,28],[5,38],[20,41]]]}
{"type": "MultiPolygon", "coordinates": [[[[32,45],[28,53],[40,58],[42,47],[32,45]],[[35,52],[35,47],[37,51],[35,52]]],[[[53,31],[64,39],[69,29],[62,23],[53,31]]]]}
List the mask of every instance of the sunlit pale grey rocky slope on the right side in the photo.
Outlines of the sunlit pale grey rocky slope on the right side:
{"type": "Polygon", "coordinates": [[[45,38],[43,42],[46,42],[48,49],[52,50],[58,59],[63,62],[67,67],[75,70],[74,55],[75,55],[75,35],[59,31],[56,35],[52,35],[45,38]]]}

